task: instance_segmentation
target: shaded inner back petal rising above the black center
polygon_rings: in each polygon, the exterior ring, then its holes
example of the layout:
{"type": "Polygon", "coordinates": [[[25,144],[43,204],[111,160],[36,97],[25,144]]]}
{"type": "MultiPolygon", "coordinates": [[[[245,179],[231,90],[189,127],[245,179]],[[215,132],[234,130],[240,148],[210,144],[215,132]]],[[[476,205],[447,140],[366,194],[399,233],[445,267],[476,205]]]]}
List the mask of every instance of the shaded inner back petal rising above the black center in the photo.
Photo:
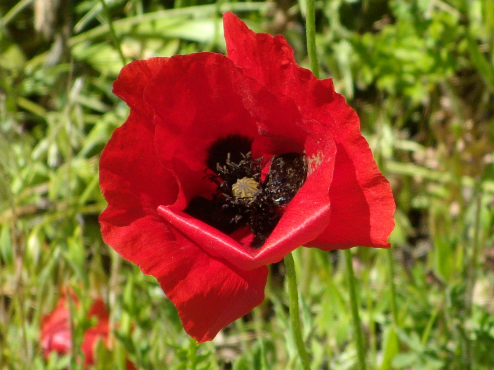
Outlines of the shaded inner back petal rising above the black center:
{"type": "Polygon", "coordinates": [[[156,113],[161,161],[172,166],[178,158],[176,173],[184,166],[197,173],[190,183],[210,185],[203,179],[207,149],[227,136],[253,140],[254,157],[303,149],[305,133],[294,103],[269,93],[224,55],[170,58],[148,84],[145,99],[156,113]]]}

